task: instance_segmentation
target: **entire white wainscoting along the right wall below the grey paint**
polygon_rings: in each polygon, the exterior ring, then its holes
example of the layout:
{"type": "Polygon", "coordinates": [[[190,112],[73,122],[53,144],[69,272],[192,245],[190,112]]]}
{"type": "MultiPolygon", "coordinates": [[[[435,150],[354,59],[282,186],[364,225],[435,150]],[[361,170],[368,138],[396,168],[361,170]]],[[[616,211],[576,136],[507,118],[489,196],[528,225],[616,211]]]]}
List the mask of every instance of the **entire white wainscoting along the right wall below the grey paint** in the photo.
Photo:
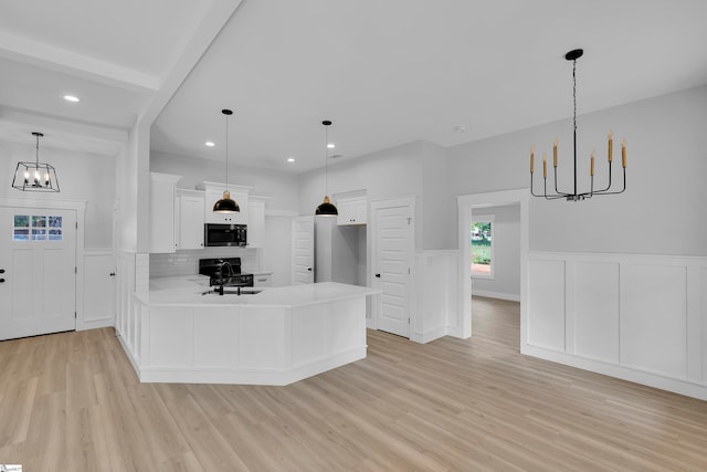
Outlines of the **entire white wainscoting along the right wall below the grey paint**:
{"type": "Polygon", "coordinates": [[[521,324],[524,354],[707,400],[707,258],[530,253],[521,324]]]}

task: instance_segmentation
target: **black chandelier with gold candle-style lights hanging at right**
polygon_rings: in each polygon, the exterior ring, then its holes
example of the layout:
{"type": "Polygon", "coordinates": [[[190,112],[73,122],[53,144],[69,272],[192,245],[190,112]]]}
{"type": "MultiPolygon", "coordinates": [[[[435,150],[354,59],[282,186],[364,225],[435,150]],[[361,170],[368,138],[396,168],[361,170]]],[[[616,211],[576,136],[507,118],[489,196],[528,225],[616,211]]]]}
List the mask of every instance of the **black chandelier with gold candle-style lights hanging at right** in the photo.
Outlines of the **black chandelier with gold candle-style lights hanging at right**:
{"type": "Polygon", "coordinates": [[[613,133],[609,130],[609,150],[606,161],[609,164],[609,183],[606,187],[594,190],[594,151],[592,150],[589,160],[589,176],[590,176],[590,190],[579,193],[577,191],[577,60],[584,53],[581,49],[576,49],[567,54],[564,59],[572,61],[572,97],[573,97],[573,127],[572,134],[574,138],[574,187],[572,192],[560,191],[557,185],[557,138],[552,145],[552,167],[555,168],[555,193],[548,193],[548,168],[547,156],[542,155],[542,193],[536,193],[532,188],[532,174],[534,174],[534,160],[535,160],[535,146],[530,148],[530,193],[534,197],[544,197],[547,200],[556,200],[558,198],[566,198],[567,201],[580,201],[587,198],[592,198],[595,195],[616,195],[622,193],[626,189],[626,140],[621,141],[621,165],[623,167],[623,188],[621,190],[613,190],[611,188],[611,165],[613,162],[612,147],[613,147],[613,133]]]}

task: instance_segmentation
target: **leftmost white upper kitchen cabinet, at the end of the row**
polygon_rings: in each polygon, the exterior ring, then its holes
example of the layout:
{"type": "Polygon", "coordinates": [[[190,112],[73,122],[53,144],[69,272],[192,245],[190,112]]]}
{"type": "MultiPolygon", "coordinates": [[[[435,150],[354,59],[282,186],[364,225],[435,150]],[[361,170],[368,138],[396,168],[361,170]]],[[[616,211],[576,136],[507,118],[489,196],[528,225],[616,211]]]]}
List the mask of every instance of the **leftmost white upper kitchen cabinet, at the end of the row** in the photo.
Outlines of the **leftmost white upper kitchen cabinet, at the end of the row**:
{"type": "Polygon", "coordinates": [[[150,252],[175,252],[175,199],[181,176],[150,172],[150,252]]]}

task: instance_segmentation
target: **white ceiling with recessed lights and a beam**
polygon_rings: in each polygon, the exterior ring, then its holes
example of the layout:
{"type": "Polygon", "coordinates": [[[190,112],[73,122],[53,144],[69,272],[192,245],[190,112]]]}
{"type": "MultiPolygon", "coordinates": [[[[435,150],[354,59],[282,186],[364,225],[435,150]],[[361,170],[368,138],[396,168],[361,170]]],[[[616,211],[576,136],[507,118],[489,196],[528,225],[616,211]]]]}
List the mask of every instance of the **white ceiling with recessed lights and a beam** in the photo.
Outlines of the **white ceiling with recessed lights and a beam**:
{"type": "Polygon", "coordinates": [[[112,154],[159,114],[154,150],[223,160],[229,107],[231,161],[300,172],[324,164],[324,118],[344,161],[571,116],[574,48],[580,114],[706,84],[705,18],[704,0],[3,2],[0,139],[51,145],[43,125],[112,154]]]}

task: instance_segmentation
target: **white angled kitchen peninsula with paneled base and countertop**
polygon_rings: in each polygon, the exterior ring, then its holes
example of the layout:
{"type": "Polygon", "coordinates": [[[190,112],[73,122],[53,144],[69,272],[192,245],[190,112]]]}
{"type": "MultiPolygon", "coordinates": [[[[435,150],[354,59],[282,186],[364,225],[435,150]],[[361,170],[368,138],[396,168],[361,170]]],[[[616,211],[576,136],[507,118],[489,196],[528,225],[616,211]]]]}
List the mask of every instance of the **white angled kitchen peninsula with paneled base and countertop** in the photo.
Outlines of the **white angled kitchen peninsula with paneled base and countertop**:
{"type": "Polygon", "coordinates": [[[334,282],[214,295],[193,279],[135,294],[118,338],[140,381],[287,385],[366,357],[370,287],[334,282]]]}

